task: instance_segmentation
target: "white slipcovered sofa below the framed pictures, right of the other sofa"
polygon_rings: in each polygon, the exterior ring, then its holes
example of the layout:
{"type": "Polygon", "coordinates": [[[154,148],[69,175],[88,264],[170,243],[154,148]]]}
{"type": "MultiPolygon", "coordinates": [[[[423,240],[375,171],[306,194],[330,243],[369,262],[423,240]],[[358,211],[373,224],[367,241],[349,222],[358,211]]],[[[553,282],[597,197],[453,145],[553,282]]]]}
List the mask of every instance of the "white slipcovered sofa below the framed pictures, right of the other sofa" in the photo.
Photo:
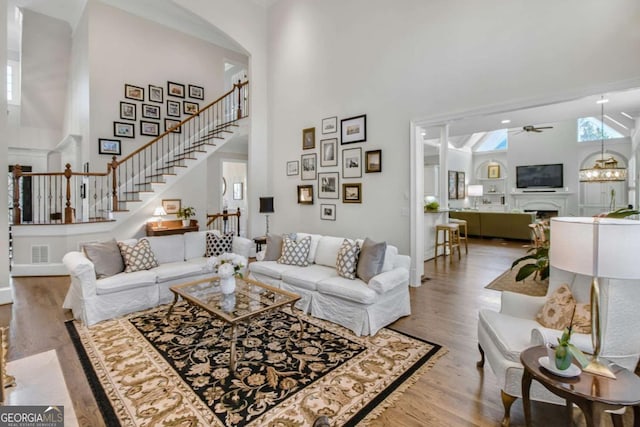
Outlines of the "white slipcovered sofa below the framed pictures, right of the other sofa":
{"type": "Polygon", "coordinates": [[[298,240],[305,236],[312,241],[308,266],[256,261],[249,264],[249,277],[300,295],[297,308],[338,323],[358,336],[375,335],[380,328],[411,314],[411,260],[399,255],[395,246],[387,245],[382,272],[365,283],[341,277],[336,271],[343,237],[297,233],[298,240]]]}

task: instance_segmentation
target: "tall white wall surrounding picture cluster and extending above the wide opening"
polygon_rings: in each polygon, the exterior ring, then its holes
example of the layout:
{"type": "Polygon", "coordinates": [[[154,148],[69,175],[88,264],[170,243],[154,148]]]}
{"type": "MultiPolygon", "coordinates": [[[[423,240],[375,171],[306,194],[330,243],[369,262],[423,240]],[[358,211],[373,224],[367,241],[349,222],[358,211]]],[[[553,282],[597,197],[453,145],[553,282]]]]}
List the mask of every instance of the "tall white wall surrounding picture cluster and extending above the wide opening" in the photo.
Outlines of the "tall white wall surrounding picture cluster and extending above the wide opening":
{"type": "Polygon", "coordinates": [[[275,3],[269,109],[282,208],[273,229],[368,235],[408,253],[409,121],[637,81],[640,57],[629,52],[640,50],[639,7],[634,0],[275,3]],[[285,163],[299,158],[303,128],[356,114],[367,114],[361,146],[383,150],[383,172],[362,179],[362,205],[338,203],[337,221],[320,221],[318,202],[296,204],[301,182],[285,176],[285,163]]]}

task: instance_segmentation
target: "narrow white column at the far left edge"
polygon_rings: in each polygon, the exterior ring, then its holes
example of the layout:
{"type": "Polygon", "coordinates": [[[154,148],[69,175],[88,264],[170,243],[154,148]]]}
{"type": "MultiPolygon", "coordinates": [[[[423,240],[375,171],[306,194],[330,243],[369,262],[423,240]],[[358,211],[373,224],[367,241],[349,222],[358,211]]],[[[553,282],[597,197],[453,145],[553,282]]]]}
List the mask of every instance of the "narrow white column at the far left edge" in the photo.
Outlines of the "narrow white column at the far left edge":
{"type": "MultiPolygon", "coordinates": [[[[0,96],[0,135],[7,135],[7,0],[0,0],[0,22],[3,22],[3,31],[0,31],[0,82],[2,82],[2,95],[0,96]]],[[[2,171],[4,179],[7,179],[9,171],[9,143],[6,138],[2,138],[0,142],[0,171],[2,171]]],[[[5,181],[6,183],[6,181],[5,181]]],[[[8,188],[0,185],[0,200],[6,208],[7,200],[9,200],[8,188]]],[[[8,212],[3,210],[0,214],[0,304],[8,304],[12,302],[11,285],[9,277],[9,220],[8,212]]]]}

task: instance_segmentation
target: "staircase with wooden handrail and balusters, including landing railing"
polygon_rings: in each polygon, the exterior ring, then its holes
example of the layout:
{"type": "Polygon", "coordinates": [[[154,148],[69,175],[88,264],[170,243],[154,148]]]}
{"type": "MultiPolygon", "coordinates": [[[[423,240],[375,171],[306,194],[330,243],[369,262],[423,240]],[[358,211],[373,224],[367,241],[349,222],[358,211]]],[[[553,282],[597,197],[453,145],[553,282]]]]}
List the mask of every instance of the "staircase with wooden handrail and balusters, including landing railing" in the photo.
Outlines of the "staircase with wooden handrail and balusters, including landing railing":
{"type": "Polygon", "coordinates": [[[104,173],[25,173],[13,167],[13,225],[75,224],[117,220],[157,197],[166,184],[215,152],[248,117],[248,81],[191,117],[107,164],[104,173]],[[27,206],[27,209],[25,207],[27,206]]]}

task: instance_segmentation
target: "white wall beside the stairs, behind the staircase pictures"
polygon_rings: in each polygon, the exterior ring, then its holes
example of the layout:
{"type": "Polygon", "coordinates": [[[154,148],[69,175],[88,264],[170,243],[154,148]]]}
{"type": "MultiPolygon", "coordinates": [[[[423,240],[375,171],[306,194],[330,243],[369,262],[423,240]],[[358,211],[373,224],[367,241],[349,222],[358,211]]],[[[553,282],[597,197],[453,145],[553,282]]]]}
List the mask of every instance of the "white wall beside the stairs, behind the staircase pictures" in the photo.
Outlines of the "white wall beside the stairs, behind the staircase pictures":
{"type": "MultiPolygon", "coordinates": [[[[160,123],[164,131],[167,99],[181,104],[186,99],[204,107],[223,94],[225,59],[247,62],[244,55],[99,1],[89,2],[88,9],[91,127],[89,138],[83,144],[91,153],[94,170],[103,169],[109,161],[109,156],[98,154],[97,142],[98,138],[114,138],[114,121],[135,125],[135,139],[118,138],[122,140],[122,155],[126,156],[153,139],[140,135],[141,120],[160,123]],[[187,94],[189,84],[204,87],[205,100],[168,97],[167,81],[184,84],[187,94]],[[144,88],[145,101],[124,98],[125,83],[144,88]],[[162,105],[148,101],[149,84],[164,88],[162,105]],[[120,119],[120,101],[137,105],[135,122],[120,119]],[[143,104],[160,106],[161,120],[142,118],[143,104]]],[[[182,115],[183,120],[187,117],[182,115]]]]}

